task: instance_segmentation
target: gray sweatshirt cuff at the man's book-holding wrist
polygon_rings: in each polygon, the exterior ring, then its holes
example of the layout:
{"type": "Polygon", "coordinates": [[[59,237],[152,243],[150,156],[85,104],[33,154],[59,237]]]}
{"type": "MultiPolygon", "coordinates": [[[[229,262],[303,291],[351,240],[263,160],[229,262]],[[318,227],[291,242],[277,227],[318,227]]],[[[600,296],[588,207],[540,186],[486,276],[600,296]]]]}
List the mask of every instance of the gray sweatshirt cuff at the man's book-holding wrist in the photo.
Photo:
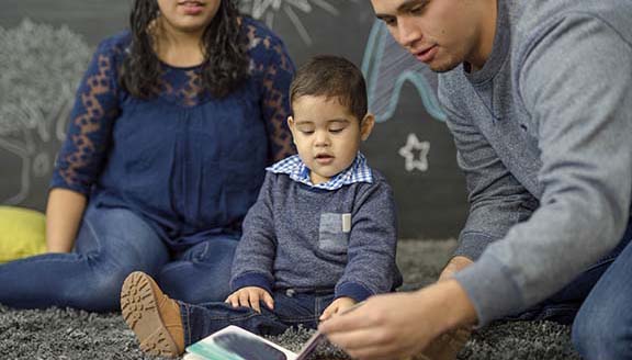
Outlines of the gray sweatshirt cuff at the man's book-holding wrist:
{"type": "Polygon", "coordinates": [[[454,279],[463,286],[476,310],[476,327],[526,307],[520,288],[511,279],[509,270],[488,254],[456,272],[454,279]]]}

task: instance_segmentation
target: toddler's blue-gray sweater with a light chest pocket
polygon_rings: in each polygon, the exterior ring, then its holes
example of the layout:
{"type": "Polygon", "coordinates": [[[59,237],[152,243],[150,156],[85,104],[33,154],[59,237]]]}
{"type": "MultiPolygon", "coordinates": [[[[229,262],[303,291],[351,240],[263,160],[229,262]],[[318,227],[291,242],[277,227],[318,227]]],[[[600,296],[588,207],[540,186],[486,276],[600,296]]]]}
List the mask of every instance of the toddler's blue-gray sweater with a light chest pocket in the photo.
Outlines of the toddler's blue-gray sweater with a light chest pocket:
{"type": "Polygon", "coordinates": [[[244,221],[232,289],[335,293],[363,301],[402,284],[393,192],[373,182],[312,188],[268,172],[244,221]]]}

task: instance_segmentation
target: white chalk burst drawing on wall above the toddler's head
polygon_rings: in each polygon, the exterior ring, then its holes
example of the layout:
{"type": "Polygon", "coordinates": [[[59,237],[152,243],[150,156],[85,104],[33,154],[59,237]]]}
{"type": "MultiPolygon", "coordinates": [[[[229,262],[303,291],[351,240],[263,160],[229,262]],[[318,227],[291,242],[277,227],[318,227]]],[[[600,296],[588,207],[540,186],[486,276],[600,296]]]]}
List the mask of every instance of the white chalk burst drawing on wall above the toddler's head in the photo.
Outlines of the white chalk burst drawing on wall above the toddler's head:
{"type": "MultiPolygon", "coordinates": [[[[314,11],[314,8],[319,8],[334,16],[338,16],[340,11],[338,11],[335,4],[339,4],[341,1],[342,0],[242,0],[240,9],[252,18],[264,21],[269,27],[273,27],[274,16],[282,12],[290,19],[292,24],[294,24],[303,42],[312,45],[312,36],[309,36],[307,27],[305,27],[296,12],[309,14],[314,11]]],[[[346,1],[358,2],[358,0],[346,1]]]]}

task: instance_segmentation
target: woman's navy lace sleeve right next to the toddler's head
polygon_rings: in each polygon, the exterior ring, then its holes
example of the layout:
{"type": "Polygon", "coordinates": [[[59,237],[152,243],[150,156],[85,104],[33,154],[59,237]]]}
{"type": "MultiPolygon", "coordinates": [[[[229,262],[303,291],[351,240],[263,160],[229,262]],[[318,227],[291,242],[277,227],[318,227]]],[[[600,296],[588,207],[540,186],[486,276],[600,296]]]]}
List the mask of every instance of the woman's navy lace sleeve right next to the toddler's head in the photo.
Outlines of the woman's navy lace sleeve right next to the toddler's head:
{"type": "Polygon", "coordinates": [[[296,153],[287,128],[290,115],[290,83],[294,77],[294,64],[283,43],[264,42],[270,57],[263,69],[262,114],[268,130],[270,161],[281,160],[296,153]]]}

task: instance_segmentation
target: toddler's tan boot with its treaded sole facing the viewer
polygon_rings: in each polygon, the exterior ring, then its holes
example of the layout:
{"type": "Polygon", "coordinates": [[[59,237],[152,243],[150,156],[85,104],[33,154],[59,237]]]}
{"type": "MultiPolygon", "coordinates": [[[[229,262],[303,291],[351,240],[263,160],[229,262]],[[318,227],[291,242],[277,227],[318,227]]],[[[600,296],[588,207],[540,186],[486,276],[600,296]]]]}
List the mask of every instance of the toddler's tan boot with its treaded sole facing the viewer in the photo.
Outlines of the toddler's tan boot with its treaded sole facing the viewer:
{"type": "Polygon", "coordinates": [[[148,274],[135,271],[125,279],[121,289],[121,312],[143,351],[161,357],[178,357],[184,352],[180,306],[165,295],[148,274]]]}

